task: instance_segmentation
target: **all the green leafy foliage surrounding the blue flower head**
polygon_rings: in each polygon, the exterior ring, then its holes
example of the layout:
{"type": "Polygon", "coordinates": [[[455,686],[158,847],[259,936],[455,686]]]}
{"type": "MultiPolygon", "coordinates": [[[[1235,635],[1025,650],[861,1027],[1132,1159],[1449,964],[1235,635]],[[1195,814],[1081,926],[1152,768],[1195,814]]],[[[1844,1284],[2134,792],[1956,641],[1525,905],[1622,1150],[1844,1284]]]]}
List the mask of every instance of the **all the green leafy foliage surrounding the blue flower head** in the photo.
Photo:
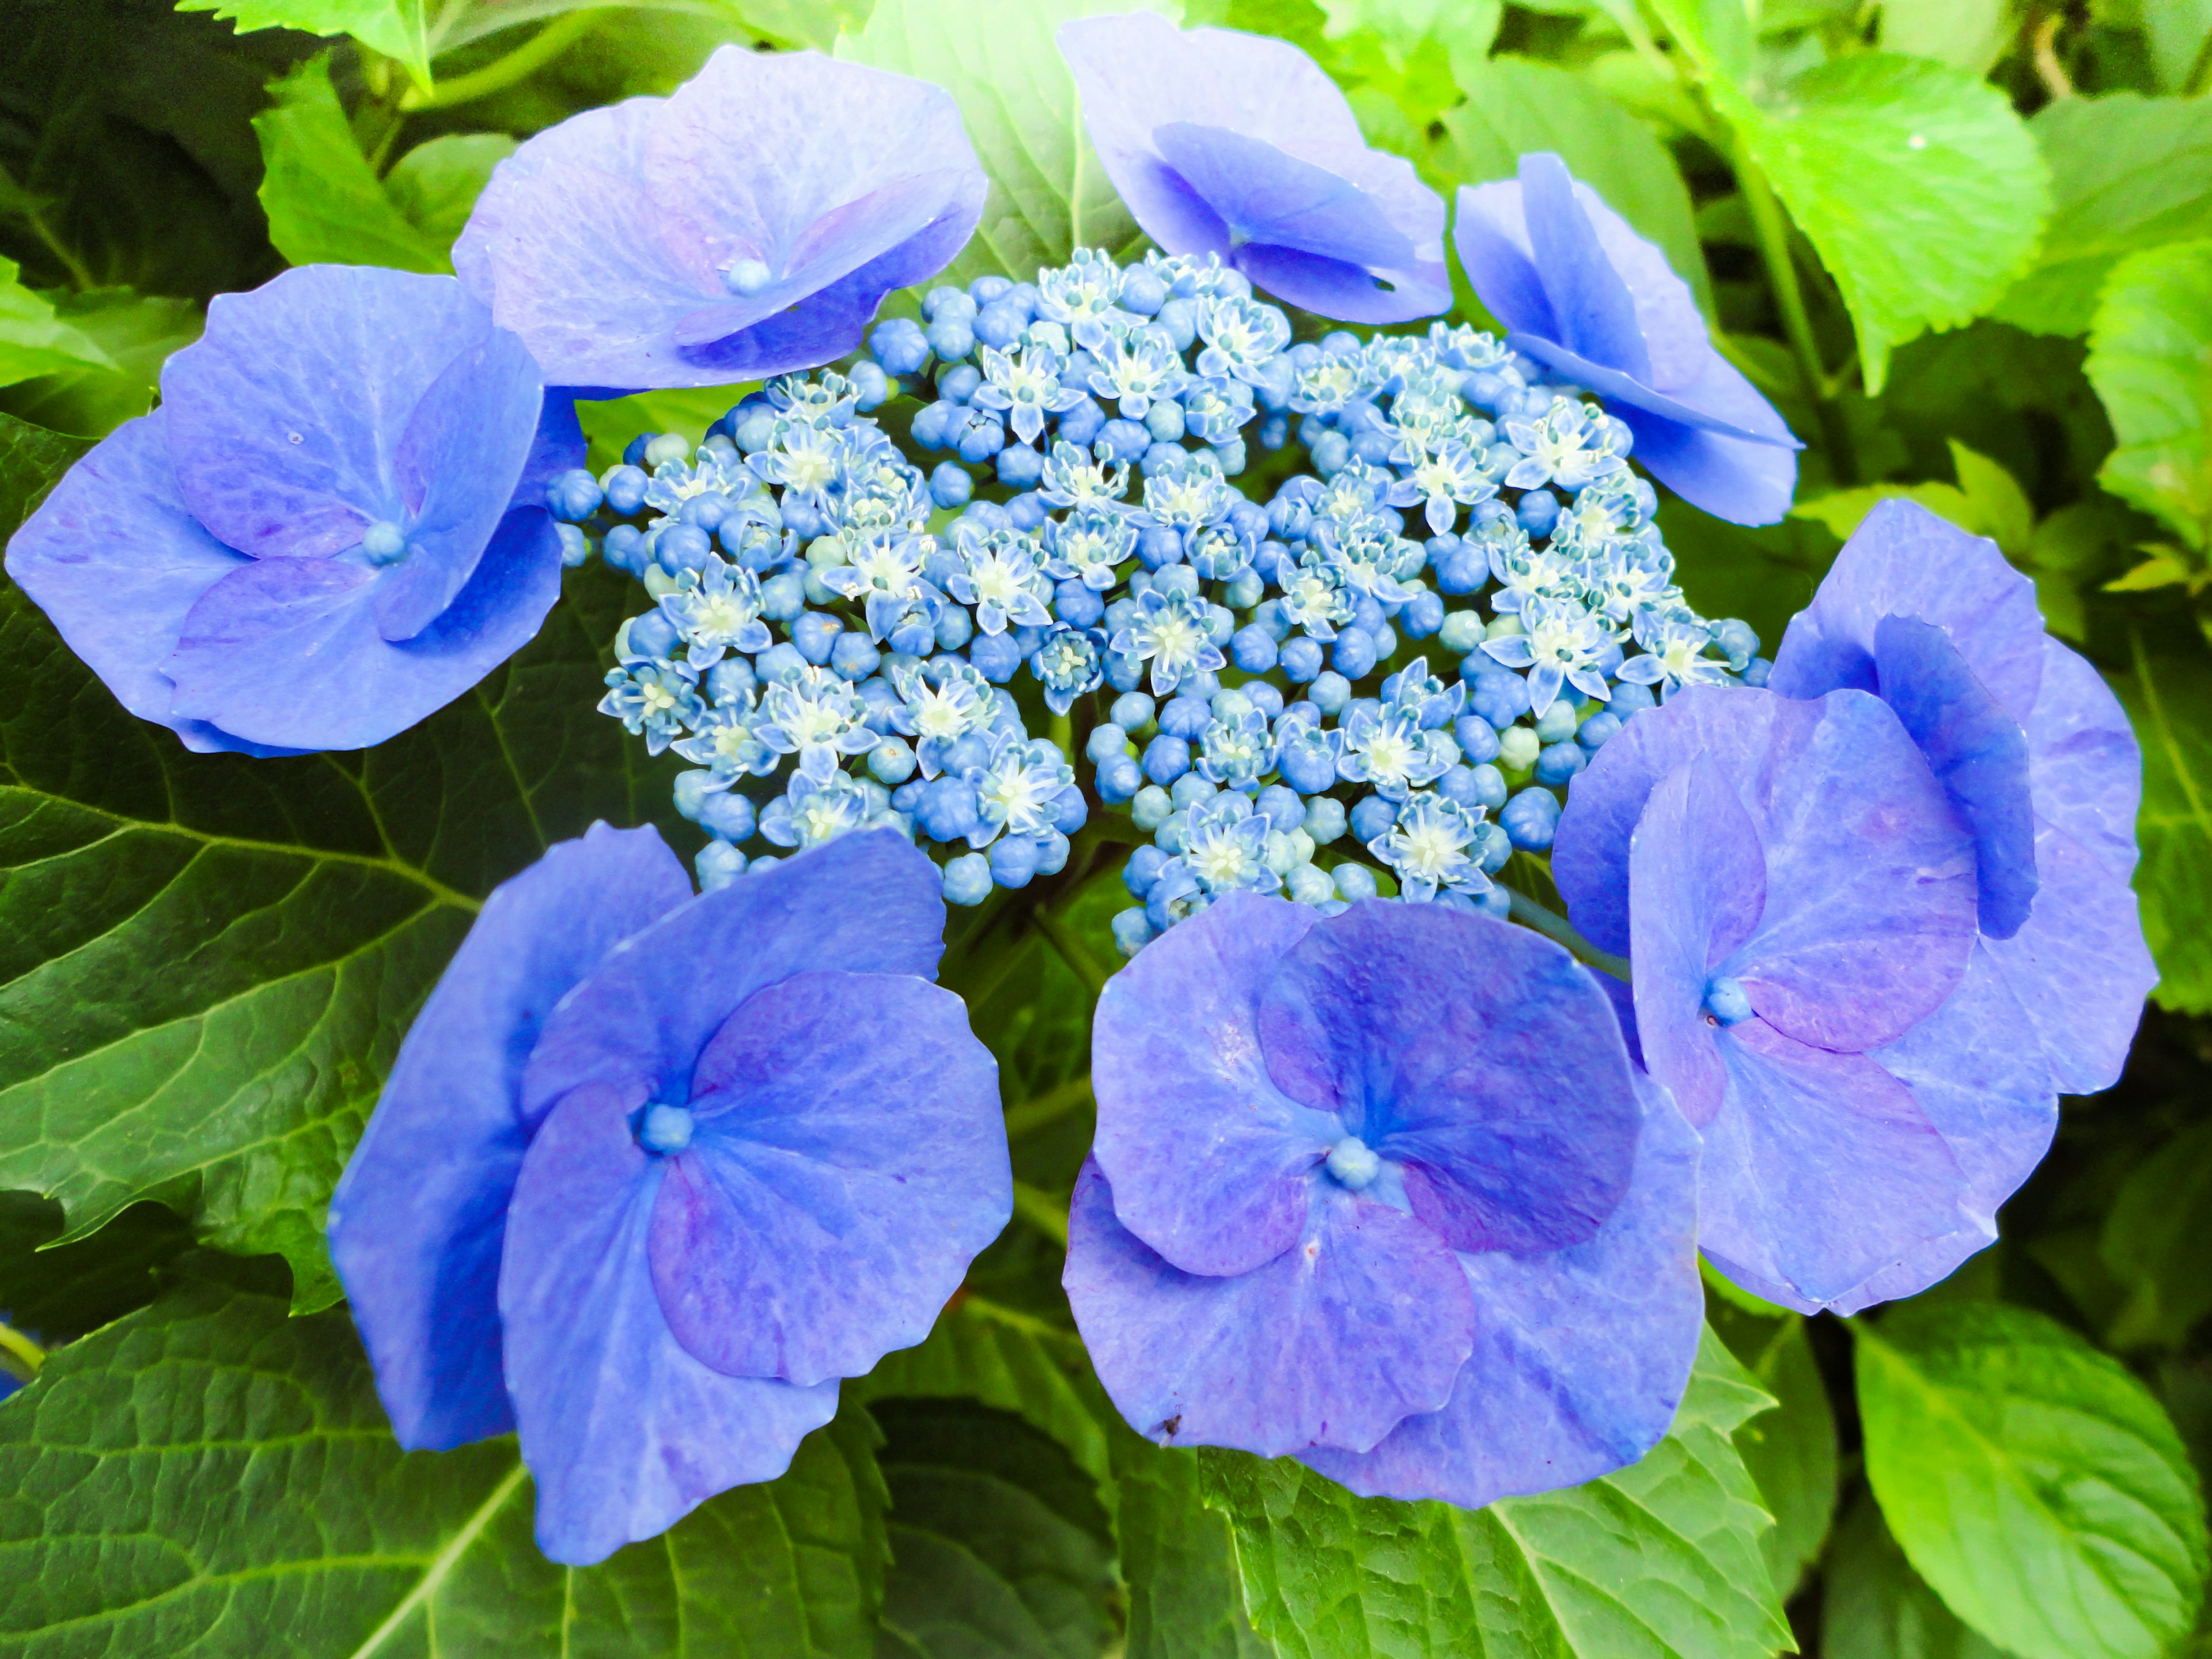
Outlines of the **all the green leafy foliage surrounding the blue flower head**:
{"type": "MultiPolygon", "coordinates": [[[[285,263],[447,270],[491,166],[721,42],[949,86],[993,190],[958,276],[1137,243],[1053,27],[1124,0],[15,0],[0,535],[285,263]],[[212,15],[208,15],[212,13],[212,15]]],[[[1172,0],[1170,0],[1172,4],[1172,0]]],[[[792,1471],[562,1571],[511,1440],[403,1455],[321,1243],[482,896],[668,779],[593,714],[624,608],[405,737],[186,757],[0,584],[0,1652],[2212,1652],[2212,4],[1188,0],[1285,35],[1442,190],[1553,148],[1807,438],[1796,513],[1663,513],[1772,644],[1911,495],[1997,540],[2146,754],[2163,982],[2126,1079],[1951,1281],[1849,1325],[1714,1290],[1668,1440],[1464,1515],[1121,1427],[1057,1290],[1117,883],[962,916],[1018,1219],[792,1471]],[[1037,931],[1042,929],[1042,931],[1037,931]],[[4,1385],[0,1385],[4,1387],[4,1385]]],[[[1462,303],[1480,316],[1462,288],[1462,303]]],[[[734,392],[588,407],[597,465],[734,392]]],[[[1095,852],[1095,849],[1093,849],[1095,852]]]]}

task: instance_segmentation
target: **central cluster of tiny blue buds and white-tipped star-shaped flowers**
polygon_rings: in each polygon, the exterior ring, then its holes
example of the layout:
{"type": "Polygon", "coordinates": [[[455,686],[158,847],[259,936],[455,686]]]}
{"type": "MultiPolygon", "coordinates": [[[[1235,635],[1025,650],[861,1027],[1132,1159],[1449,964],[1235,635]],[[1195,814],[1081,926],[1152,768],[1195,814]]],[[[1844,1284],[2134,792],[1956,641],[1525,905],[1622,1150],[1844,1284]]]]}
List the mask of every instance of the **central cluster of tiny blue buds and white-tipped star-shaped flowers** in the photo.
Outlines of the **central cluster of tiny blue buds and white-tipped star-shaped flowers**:
{"type": "Polygon", "coordinates": [[[1077,250],[555,480],[655,599],[599,708],[692,761],[701,885],[896,825],[975,905],[1108,810],[1128,953],[1230,891],[1504,914],[1621,721],[1765,679],[1593,398],[1471,327],[1294,334],[1212,257],[1077,250]]]}

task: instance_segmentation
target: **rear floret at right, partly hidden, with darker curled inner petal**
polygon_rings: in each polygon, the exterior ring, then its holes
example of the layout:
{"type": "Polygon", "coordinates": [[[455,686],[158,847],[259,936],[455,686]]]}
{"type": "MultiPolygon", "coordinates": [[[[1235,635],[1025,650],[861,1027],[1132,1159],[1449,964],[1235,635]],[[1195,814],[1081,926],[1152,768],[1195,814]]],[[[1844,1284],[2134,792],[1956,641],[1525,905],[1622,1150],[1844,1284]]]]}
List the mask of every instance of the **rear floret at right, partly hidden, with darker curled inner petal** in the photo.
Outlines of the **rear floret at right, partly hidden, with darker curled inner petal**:
{"type": "Polygon", "coordinates": [[[2104,677],[2044,633],[1995,542],[1882,502],[1774,653],[1772,688],[1871,690],[1980,854],[1980,953],[2066,1095],[2110,1088],[2159,971],[2135,894],[2143,757],[2104,677]]]}

